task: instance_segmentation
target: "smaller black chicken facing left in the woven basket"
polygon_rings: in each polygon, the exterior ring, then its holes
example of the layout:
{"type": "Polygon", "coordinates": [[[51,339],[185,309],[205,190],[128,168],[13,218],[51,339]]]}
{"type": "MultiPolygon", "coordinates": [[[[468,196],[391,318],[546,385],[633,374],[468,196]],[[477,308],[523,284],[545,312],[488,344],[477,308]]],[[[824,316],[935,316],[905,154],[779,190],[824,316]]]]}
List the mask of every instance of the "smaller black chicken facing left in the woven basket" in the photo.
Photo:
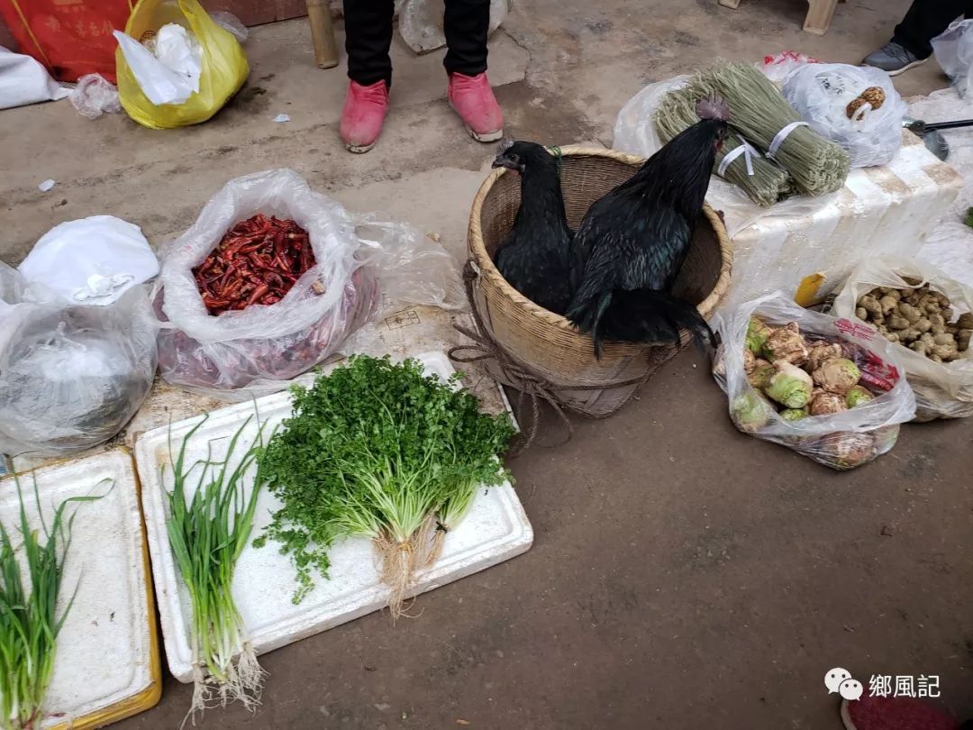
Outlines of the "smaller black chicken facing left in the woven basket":
{"type": "Polygon", "coordinates": [[[494,263],[523,296],[545,310],[563,314],[571,301],[570,243],[558,161],[533,142],[504,142],[494,167],[521,173],[521,207],[510,233],[497,247],[494,263]]]}

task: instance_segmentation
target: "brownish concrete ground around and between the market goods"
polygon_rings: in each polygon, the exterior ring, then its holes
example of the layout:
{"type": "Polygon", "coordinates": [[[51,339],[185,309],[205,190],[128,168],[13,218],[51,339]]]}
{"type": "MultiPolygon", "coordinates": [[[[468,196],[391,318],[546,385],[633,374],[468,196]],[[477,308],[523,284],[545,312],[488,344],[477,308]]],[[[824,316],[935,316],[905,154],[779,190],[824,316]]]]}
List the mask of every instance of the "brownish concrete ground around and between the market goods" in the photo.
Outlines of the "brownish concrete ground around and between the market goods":
{"type": "MultiPolygon", "coordinates": [[[[839,6],[803,34],[798,0],[521,0],[491,42],[516,136],[611,142],[644,84],[715,56],[795,49],[857,61],[906,0],[839,6]]],[[[350,207],[442,235],[462,255],[490,149],[443,100],[441,54],[397,44],[380,144],[339,144],[342,70],[313,66],[306,23],[255,29],[250,81],[217,118],[153,131],[88,122],[68,102],[0,113],[3,232],[16,264],[63,220],[112,213],[153,243],[184,230],[231,177],[290,166],[350,207]],[[292,121],[275,124],[278,113],[292,121]],[[57,181],[43,194],[37,184],[57,181]]],[[[933,62],[904,93],[945,84],[933,62]]],[[[557,441],[547,424],[542,439],[557,441]]],[[[687,353],[612,420],[511,464],[536,530],[530,552],[422,597],[391,626],[373,614],[263,658],[264,704],[213,710],[210,728],[840,728],[832,667],[938,675],[934,700],[973,716],[973,423],[910,425],[847,474],[740,435],[687,353]]],[[[175,728],[189,687],[121,726],[175,728]]]]}

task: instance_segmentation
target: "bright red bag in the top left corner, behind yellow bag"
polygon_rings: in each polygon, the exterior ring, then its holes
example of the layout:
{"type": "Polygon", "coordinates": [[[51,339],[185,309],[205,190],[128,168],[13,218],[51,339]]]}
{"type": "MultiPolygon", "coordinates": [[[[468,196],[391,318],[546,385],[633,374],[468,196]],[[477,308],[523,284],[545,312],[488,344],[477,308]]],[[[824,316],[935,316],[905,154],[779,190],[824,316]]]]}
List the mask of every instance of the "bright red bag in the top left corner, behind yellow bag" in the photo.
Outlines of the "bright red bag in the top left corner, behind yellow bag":
{"type": "Polygon", "coordinates": [[[115,83],[113,30],[125,30],[128,0],[0,0],[0,15],[21,54],[32,55],[58,81],[99,73],[115,83]]]}

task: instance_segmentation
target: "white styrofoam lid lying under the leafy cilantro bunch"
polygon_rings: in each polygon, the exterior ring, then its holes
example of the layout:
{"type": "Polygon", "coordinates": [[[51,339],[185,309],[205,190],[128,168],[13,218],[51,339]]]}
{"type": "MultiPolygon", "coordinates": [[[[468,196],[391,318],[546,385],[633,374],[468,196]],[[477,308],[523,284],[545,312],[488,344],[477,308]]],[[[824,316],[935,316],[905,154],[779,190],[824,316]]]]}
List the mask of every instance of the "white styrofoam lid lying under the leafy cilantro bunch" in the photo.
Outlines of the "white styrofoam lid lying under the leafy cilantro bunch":
{"type": "MultiPolygon", "coordinates": [[[[435,352],[417,358],[428,373],[448,378],[453,370],[446,355],[435,352]]],[[[259,414],[269,433],[291,413],[289,393],[275,393],[251,403],[240,403],[214,411],[187,447],[186,463],[206,455],[222,458],[230,438],[248,417],[259,414]]],[[[199,418],[171,425],[173,451],[199,418]]],[[[257,434],[256,420],[240,436],[236,454],[242,456],[257,434]]],[[[192,681],[193,656],[189,641],[192,612],[182,578],[172,560],[165,534],[167,493],[172,489],[169,464],[169,427],[157,428],[139,437],[135,460],[142,479],[142,500],[153,576],[162,619],[162,639],[169,670],[180,681],[192,681]]],[[[248,477],[252,478],[252,472],[248,477]]],[[[280,506],[276,496],[265,490],[257,502],[253,536],[270,524],[270,513],[280,506]]],[[[420,573],[413,595],[431,591],[471,573],[494,566],[525,552],[533,542],[533,529],[527,522],[521,502],[508,483],[478,494],[470,512],[446,538],[442,557],[420,573]]],[[[352,539],[336,544],[330,551],[330,579],[314,576],[315,588],[304,601],[291,599],[296,588],[295,568],[269,541],[263,548],[248,544],[240,555],[234,573],[234,600],[246,623],[258,654],[299,639],[326,631],[352,619],[382,608],[388,591],[378,579],[370,540],[352,539]]]]}

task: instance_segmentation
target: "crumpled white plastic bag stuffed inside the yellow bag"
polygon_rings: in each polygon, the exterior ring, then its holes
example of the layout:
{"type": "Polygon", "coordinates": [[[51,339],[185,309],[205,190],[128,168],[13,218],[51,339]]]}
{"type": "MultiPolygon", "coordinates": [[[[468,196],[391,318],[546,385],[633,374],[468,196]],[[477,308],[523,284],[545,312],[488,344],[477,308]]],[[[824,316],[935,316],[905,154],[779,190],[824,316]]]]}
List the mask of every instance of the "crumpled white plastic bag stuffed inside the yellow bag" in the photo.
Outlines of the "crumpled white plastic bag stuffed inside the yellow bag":
{"type": "Polygon", "coordinates": [[[120,30],[113,32],[139,89],[153,104],[182,104],[199,91],[202,48],[182,25],[166,23],[153,50],[120,30]]]}

